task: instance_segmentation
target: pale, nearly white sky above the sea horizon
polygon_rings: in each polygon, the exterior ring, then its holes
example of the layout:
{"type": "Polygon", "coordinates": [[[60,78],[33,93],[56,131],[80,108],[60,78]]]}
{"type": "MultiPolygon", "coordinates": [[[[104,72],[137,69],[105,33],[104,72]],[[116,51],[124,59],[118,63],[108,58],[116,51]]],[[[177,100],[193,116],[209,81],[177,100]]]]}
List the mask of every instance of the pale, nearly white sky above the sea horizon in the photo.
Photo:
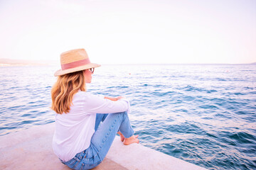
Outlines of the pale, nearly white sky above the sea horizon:
{"type": "Polygon", "coordinates": [[[256,62],[255,0],[0,0],[0,58],[99,64],[256,62]]]}

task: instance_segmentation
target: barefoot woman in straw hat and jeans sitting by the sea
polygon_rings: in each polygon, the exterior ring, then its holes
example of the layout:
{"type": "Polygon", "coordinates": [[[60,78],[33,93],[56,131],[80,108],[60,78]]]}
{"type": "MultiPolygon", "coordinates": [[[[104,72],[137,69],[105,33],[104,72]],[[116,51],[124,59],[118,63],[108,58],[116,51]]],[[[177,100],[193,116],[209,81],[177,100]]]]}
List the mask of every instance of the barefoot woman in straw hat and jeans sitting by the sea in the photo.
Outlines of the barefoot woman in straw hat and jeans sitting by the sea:
{"type": "Polygon", "coordinates": [[[105,158],[117,132],[124,145],[139,143],[129,123],[127,99],[85,92],[85,84],[100,65],[91,63],[84,49],[63,52],[60,63],[51,91],[56,113],[53,151],[60,161],[71,169],[94,168],[105,158]]]}

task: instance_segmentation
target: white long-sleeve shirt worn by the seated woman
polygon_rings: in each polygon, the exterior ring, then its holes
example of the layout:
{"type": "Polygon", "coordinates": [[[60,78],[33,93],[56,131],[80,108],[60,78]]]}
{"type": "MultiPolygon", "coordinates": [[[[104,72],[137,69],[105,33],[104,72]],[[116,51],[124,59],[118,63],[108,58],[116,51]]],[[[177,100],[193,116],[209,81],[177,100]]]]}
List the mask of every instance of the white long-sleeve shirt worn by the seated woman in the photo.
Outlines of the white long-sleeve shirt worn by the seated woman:
{"type": "Polygon", "coordinates": [[[85,91],[78,91],[73,96],[73,105],[69,113],[55,114],[55,133],[53,151],[67,162],[75,154],[90,146],[95,132],[96,113],[129,112],[129,101],[120,99],[110,101],[104,96],[97,96],[85,91]]]}

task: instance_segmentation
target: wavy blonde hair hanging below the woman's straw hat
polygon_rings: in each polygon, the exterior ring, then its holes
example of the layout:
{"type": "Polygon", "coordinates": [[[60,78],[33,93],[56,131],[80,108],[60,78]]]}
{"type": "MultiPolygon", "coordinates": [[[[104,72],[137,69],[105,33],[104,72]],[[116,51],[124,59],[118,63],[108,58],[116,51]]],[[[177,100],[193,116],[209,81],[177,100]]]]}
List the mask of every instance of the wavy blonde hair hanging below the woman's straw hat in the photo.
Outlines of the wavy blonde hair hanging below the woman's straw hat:
{"type": "Polygon", "coordinates": [[[86,91],[84,71],[59,76],[51,89],[51,109],[58,114],[69,113],[73,96],[79,90],[86,91]]]}

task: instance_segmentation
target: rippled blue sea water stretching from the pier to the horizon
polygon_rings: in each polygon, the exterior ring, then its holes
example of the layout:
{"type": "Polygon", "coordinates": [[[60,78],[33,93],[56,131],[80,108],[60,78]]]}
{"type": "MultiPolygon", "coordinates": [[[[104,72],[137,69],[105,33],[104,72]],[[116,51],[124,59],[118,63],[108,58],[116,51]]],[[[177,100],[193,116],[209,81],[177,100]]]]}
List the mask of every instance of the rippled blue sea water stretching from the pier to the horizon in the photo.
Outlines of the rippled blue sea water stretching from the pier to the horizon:
{"type": "MultiPolygon", "coordinates": [[[[54,122],[58,67],[0,67],[0,135],[54,122]]],[[[256,169],[256,65],[103,65],[87,91],[125,96],[140,143],[207,169],[256,169]]]]}

